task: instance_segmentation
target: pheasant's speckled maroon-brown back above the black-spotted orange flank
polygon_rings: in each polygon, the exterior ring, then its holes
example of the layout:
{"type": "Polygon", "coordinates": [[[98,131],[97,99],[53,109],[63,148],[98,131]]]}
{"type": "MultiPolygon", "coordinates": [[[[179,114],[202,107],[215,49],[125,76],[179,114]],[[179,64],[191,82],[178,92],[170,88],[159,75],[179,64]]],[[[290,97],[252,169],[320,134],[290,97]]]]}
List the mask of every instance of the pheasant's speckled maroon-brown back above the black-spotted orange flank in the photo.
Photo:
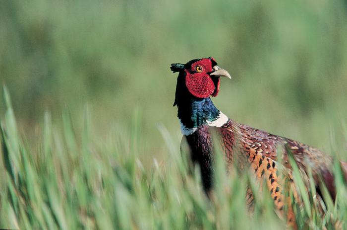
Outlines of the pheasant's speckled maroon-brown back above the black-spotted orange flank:
{"type": "MultiPolygon", "coordinates": [[[[272,135],[232,120],[221,127],[221,133],[222,146],[224,146],[224,152],[229,162],[232,162],[236,155],[245,155],[248,161],[239,161],[239,163],[249,164],[256,160],[257,155],[261,155],[261,158],[263,156],[265,159],[269,158],[275,161],[275,164],[280,162],[290,171],[289,154],[291,154],[301,171],[301,175],[306,177],[303,179],[309,180],[307,172],[310,168],[316,185],[318,186],[320,177],[322,177],[332,197],[335,198],[332,156],[300,142],[272,135]]],[[[260,161],[262,163],[262,159],[260,161]]],[[[259,162],[257,163],[259,165],[259,162]]],[[[347,164],[342,163],[341,165],[346,173],[347,164]]]]}

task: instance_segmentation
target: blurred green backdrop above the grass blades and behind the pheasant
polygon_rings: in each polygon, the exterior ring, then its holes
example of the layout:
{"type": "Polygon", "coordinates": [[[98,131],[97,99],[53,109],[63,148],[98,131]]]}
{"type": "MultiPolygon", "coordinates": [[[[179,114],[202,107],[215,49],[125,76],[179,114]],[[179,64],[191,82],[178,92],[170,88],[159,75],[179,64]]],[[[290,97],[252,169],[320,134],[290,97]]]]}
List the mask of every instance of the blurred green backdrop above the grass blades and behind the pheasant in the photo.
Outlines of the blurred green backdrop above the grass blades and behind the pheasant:
{"type": "Polygon", "coordinates": [[[138,112],[145,157],[164,157],[158,125],[180,138],[170,64],[212,56],[233,77],[213,99],[230,118],[327,152],[342,143],[346,0],[0,4],[0,83],[29,139],[65,107],[78,130],[88,104],[100,138],[138,112]]]}

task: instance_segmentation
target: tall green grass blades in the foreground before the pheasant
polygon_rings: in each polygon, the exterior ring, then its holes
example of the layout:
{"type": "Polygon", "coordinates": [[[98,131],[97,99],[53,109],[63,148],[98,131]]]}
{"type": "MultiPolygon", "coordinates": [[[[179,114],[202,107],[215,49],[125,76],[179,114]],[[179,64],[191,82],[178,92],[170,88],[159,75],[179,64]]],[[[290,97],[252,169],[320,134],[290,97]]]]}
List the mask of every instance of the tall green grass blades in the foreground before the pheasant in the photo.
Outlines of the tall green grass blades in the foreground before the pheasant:
{"type": "MultiPolygon", "coordinates": [[[[18,134],[8,94],[1,122],[2,161],[0,228],[6,229],[283,229],[269,194],[260,193],[253,178],[225,173],[216,159],[216,189],[206,198],[198,170],[190,173],[165,127],[159,127],[169,157],[149,168],[140,160],[145,138],[134,119],[129,133],[97,140],[85,114],[81,135],[75,135],[67,112],[63,132],[45,115],[38,145],[18,134]],[[80,137],[76,137],[80,136],[80,137]],[[24,141],[23,141],[24,140],[24,141]],[[254,213],[245,207],[245,191],[255,191],[254,213]]],[[[27,134],[30,135],[30,134],[27,134]]],[[[337,170],[339,168],[337,167],[337,170]]],[[[303,206],[296,206],[300,228],[333,228],[346,220],[346,187],[338,174],[337,202],[328,202],[326,216],[315,211],[309,193],[299,188],[303,206]],[[306,194],[306,195],[305,195],[306,194]],[[306,200],[305,200],[306,199],[306,200]],[[312,205],[311,205],[312,204],[312,205]]],[[[294,175],[295,176],[295,175],[294,175]]],[[[294,177],[295,178],[295,177],[294,177]]],[[[295,178],[299,181],[299,177],[295,178]]],[[[300,185],[300,183],[298,183],[300,185]]],[[[312,188],[314,190],[314,188],[312,188]]]]}

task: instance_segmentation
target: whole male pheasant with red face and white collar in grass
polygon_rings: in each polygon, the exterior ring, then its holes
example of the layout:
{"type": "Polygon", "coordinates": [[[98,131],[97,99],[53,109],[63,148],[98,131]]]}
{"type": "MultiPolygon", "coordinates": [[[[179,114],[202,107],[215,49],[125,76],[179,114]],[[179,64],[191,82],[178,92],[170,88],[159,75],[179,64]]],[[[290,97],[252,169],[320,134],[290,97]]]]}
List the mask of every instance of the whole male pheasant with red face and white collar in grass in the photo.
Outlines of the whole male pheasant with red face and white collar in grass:
{"type": "MultiPolygon", "coordinates": [[[[213,140],[215,139],[212,140],[211,135],[214,133],[220,137],[218,144],[225,155],[227,168],[235,163],[238,168],[254,169],[258,179],[266,178],[271,197],[281,215],[285,203],[289,203],[290,199],[288,195],[285,197],[285,186],[287,186],[285,180],[278,175],[279,150],[283,153],[281,164],[288,172],[286,177],[289,183],[293,183],[289,163],[289,155],[292,155],[305,185],[309,186],[308,168],[310,168],[317,188],[322,180],[335,199],[331,156],[288,138],[239,124],[216,108],[210,96],[217,96],[220,77],[231,77],[226,70],[217,66],[214,58],[194,59],[186,64],[172,64],[171,70],[173,73],[179,73],[173,106],[178,107],[177,116],[183,139],[186,139],[190,148],[193,162],[200,166],[203,186],[207,193],[213,186],[213,140]]],[[[347,164],[342,162],[341,168],[347,178],[347,164]]],[[[248,203],[252,203],[253,196],[250,189],[247,193],[248,203]]],[[[290,205],[287,222],[295,226],[290,205]]]]}

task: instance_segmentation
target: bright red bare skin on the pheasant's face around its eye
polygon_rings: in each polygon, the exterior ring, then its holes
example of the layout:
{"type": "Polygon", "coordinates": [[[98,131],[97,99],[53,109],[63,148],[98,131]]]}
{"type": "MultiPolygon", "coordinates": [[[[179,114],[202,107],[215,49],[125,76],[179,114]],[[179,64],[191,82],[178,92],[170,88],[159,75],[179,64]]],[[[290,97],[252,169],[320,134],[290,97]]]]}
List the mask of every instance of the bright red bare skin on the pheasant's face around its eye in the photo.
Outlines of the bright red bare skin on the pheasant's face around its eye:
{"type": "Polygon", "coordinates": [[[205,58],[193,63],[190,70],[185,70],[185,85],[191,94],[199,98],[206,98],[210,95],[217,96],[219,92],[220,79],[216,82],[216,87],[212,78],[208,74],[213,71],[212,68],[211,60],[205,58]],[[195,68],[197,66],[202,67],[201,73],[196,72],[195,68]]]}

